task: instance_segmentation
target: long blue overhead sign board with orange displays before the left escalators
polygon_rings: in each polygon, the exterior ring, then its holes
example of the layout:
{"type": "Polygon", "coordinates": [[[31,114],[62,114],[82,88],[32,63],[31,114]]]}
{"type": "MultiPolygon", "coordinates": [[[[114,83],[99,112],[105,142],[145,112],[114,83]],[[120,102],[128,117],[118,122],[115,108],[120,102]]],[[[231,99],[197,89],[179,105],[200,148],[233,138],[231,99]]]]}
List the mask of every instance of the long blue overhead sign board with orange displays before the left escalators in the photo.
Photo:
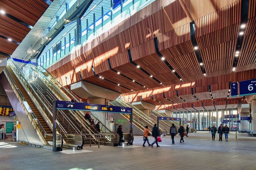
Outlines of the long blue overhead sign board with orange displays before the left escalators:
{"type": "Polygon", "coordinates": [[[131,114],[131,107],[119,107],[119,106],[109,106],[109,105],[97,105],[90,103],[79,103],[72,101],[56,101],[57,109],[66,110],[83,110],[83,111],[94,111],[94,112],[111,112],[111,113],[124,113],[131,114]]]}

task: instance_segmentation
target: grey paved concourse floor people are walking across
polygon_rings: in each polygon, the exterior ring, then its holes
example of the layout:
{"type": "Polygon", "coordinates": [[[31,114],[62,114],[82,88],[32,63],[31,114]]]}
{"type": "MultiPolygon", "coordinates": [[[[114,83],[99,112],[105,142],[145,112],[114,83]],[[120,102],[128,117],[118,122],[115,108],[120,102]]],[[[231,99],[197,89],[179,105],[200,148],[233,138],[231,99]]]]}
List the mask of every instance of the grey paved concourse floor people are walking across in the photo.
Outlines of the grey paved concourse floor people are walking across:
{"type": "MultiPolygon", "coordinates": [[[[162,137],[160,147],[142,147],[142,136],[134,136],[132,146],[85,146],[83,150],[50,150],[22,145],[10,140],[0,141],[0,169],[65,169],[65,170],[160,170],[221,169],[256,170],[256,137],[235,132],[228,142],[212,141],[209,132],[188,133],[180,137],[162,137]]],[[[149,137],[153,142],[153,137],[149,137]]]]}

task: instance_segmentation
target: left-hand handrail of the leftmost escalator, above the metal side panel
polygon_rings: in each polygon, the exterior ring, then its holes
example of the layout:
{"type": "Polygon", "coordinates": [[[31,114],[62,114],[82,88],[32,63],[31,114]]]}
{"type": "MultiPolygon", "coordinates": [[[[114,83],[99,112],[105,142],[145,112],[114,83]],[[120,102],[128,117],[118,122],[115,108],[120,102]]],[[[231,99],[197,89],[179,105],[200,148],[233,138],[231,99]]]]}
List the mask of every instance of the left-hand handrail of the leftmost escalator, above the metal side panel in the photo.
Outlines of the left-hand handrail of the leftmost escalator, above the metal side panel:
{"type": "MultiPolygon", "coordinates": [[[[12,81],[12,83],[14,83],[14,85],[16,86],[16,89],[18,89],[18,92],[19,92],[19,95],[20,96],[23,96],[23,94],[22,94],[22,92],[20,91],[20,89],[18,88],[18,86],[17,86],[17,84],[15,83],[15,81],[13,80],[13,78],[12,78],[12,76],[11,76],[11,74],[9,73],[9,71],[7,70],[7,68],[5,68],[5,72],[8,74],[8,76],[9,76],[9,78],[11,79],[11,81],[12,81]]],[[[25,97],[23,96],[23,101],[26,101],[26,99],[25,99],[25,97]]],[[[27,101],[26,101],[27,102],[27,101]]],[[[23,104],[22,104],[23,105],[23,104]]],[[[23,105],[24,106],[24,105],[23,105]]],[[[27,108],[24,106],[24,108],[27,110],[27,108]]],[[[32,111],[32,110],[31,110],[32,111]]],[[[27,112],[28,112],[28,110],[27,110],[27,112]]],[[[31,115],[31,117],[32,117],[32,121],[33,121],[33,118],[35,118],[35,119],[37,119],[36,118],[36,115],[35,115],[35,113],[32,111],[32,112],[28,112],[28,115],[31,115]]],[[[37,124],[40,126],[40,128],[42,129],[42,131],[43,131],[43,133],[44,133],[44,135],[46,135],[46,136],[53,136],[52,134],[49,134],[49,133],[47,133],[47,132],[45,132],[45,130],[44,130],[44,128],[43,128],[43,126],[41,125],[41,123],[39,122],[39,121],[37,121],[37,124]]],[[[36,125],[36,129],[37,130],[39,130],[39,128],[37,127],[37,125],[36,125]]],[[[35,129],[35,130],[36,130],[35,129]]],[[[39,130],[40,131],[40,130],[39,130]]],[[[57,134],[57,135],[60,135],[60,134],[57,134]]],[[[60,135],[61,136],[61,135],[60,135]]],[[[62,138],[62,137],[61,137],[62,138]]],[[[62,145],[63,145],[63,140],[61,141],[62,142],[62,145]]],[[[47,143],[46,141],[45,141],[45,143],[47,143]]]]}

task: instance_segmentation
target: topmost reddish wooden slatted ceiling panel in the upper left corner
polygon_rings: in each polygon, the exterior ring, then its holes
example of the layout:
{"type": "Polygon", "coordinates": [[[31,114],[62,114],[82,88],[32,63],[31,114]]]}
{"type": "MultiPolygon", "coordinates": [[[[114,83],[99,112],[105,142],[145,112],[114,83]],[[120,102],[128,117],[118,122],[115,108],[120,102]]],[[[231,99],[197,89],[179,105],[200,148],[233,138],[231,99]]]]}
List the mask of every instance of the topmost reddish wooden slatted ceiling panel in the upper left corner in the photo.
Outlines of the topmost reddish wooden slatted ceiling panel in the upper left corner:
{"type": "Polygon", "coordinates": [[[41,17],[44,11],[48,8],[42,0],[33,1],[17,1],[17,0],[1,0],[1,9],[11,14],[12,16],[28,23],[31,26],[36,24],[36,21],[41,17]]]}

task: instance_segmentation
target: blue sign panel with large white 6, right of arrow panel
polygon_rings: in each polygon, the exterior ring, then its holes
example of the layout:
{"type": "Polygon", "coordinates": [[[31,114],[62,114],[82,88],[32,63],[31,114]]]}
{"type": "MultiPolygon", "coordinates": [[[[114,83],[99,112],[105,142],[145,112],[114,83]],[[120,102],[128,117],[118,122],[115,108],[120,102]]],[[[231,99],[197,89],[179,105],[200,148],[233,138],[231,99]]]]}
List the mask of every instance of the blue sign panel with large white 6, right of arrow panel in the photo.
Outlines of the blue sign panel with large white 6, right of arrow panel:
{"type": "Polygon", "coordinates": [[[240,96],[256,94],[256,79],[240,81],[239,87],[240,96]]]}

